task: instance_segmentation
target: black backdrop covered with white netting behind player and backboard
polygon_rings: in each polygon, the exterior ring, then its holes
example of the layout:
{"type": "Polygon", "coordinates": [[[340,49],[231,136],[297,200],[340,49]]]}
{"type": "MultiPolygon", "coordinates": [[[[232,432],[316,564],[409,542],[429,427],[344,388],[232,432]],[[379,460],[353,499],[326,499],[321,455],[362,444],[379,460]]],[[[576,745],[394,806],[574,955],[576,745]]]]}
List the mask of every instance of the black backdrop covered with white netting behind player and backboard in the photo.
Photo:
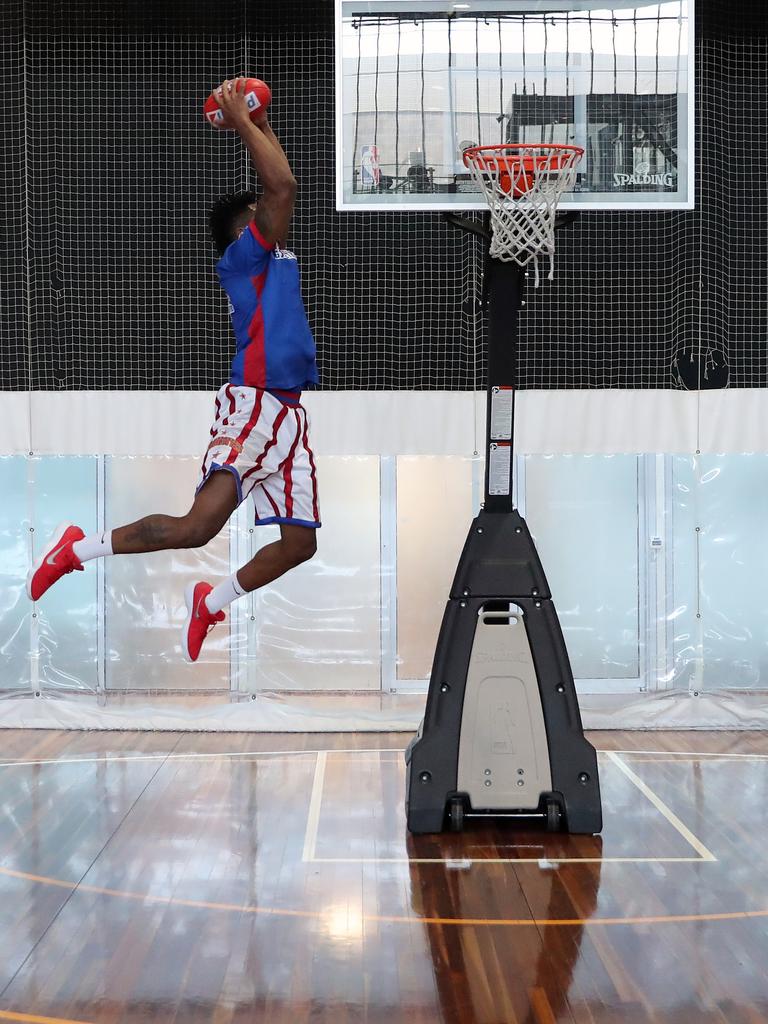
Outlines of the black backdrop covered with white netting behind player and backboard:
{"type": "MultiPolygon", "coordinates": [[[[4,0],[0,388],[213,389],[231,338],[206,219],[253,184],[200,109],[270,83],[323,386],[482,384],[480,244],[334,208],[332,0],[4,0]]],[[[768,384],[768,31],[698,0],[696,210],[586,213],[528,290],[523,387],[768,384]],[[755,154],[755,155],[754,155],[755,154]]]]}

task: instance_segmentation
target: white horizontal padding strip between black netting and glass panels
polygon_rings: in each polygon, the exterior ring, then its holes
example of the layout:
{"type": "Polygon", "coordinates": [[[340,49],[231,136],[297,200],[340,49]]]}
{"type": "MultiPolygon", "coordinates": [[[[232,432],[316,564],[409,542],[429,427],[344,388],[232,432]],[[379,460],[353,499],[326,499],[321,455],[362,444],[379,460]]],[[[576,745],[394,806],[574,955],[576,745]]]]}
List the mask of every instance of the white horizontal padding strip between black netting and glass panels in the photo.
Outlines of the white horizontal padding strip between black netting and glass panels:
{"type": "MultiPolygon", "coordinates": [[[[520,454],[768,452],[768,392],[520,391],[520,454]]],[[[317,391],[304,403],[321,455],[481,452],[483,392],[317,391]]],[[[207,391],[5,392],[0,455],[198,456],[207,442],[207,391]]]]}

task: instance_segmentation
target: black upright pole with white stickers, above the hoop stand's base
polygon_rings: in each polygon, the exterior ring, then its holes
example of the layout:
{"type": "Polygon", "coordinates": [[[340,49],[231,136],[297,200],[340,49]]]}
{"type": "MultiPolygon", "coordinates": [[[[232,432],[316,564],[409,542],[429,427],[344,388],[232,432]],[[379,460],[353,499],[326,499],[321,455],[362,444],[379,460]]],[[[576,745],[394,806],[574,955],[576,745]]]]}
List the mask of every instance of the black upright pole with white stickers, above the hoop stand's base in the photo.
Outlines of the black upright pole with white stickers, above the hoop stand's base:
{"type": "Polygon", "coordinates": [[[488,256],[485,263],[488,317],[486,512],[512,511],[517,337],[524,284],[525,271],[517,263],[505,263],[488,256]]]}

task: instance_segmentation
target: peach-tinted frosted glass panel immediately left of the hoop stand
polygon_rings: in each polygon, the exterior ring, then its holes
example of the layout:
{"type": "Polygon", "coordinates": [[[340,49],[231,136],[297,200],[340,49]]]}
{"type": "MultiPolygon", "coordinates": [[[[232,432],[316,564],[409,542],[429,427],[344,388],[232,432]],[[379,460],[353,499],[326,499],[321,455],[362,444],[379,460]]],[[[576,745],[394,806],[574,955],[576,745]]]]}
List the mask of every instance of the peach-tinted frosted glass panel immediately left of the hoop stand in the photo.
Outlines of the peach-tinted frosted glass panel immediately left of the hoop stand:
{"type": "Polygon", "coordinates": [[[397,678],[426,679],[472,521],[472,459],[397,459],[397,678]]]}

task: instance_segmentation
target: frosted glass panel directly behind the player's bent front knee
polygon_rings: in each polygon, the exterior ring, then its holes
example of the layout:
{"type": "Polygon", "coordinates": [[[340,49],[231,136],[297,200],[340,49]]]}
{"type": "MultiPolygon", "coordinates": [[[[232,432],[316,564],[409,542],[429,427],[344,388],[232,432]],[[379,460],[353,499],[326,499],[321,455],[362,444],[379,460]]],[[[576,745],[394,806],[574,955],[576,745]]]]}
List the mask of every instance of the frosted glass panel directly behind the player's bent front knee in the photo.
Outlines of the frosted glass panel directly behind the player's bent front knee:
{"type": "MultiPolygon", "coordinates": [[[[379,689],[379,459],[319,458],[317,479],[317,554],[253,598],[251,685],[379,689]]],[[[278,527],[258,526],[254,543],[278,536],[278,527]]]]}

